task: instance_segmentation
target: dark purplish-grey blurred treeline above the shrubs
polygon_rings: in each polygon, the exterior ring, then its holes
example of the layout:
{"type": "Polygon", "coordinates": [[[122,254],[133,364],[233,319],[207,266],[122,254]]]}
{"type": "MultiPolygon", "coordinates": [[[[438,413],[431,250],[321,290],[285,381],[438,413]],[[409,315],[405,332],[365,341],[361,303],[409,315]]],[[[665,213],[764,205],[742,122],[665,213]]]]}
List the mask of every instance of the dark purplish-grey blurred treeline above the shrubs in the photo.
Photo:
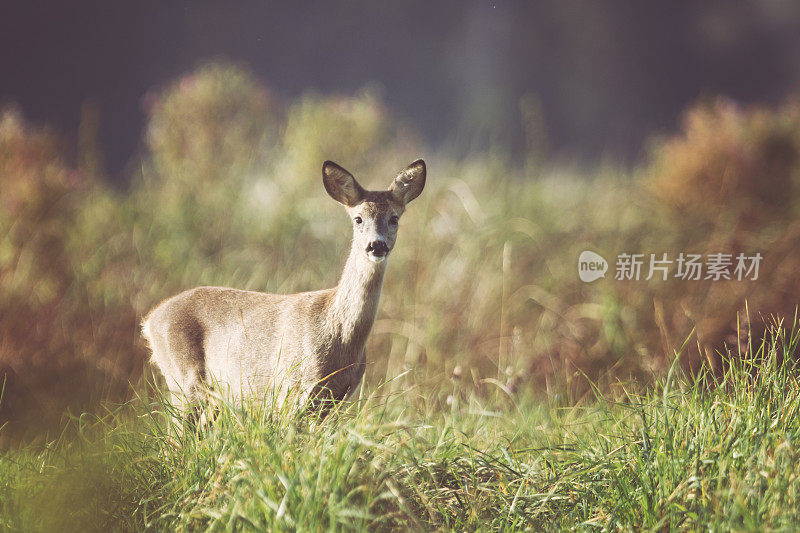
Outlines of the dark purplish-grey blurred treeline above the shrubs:
{"type": "Polygon", "coordinates": [[[550,155],[634,162],[704,94],[790,94],[799,30],[788,2],[18,2],[0,16],[0,103],[76,136],[93,103],[126,180],[148,91],[222,56],[287,100],[372,84],[434,145],[521,156],[544,135],[550,155]]]}

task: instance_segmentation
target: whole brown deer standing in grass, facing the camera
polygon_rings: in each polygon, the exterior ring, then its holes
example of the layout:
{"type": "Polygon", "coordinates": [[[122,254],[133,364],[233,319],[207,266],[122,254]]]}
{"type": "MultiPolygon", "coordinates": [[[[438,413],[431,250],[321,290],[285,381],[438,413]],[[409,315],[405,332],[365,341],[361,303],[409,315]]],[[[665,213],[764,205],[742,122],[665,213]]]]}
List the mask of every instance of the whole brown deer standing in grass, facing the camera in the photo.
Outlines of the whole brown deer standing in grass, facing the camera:
{"type": "Polygon", "coordinates": [[[196,287],[153,308],[142,334],[177,412],[197,409],[220,389],[234,401],[272,398],[277,407],[296,393],[298,405],[319,411],[350,396],[364,375],[398,221],[425,177],[418,159],[387,190],[368,191],[344,168],[324,162],[323,186],[353,226],[336,287],[296,294],[196,287]]]}

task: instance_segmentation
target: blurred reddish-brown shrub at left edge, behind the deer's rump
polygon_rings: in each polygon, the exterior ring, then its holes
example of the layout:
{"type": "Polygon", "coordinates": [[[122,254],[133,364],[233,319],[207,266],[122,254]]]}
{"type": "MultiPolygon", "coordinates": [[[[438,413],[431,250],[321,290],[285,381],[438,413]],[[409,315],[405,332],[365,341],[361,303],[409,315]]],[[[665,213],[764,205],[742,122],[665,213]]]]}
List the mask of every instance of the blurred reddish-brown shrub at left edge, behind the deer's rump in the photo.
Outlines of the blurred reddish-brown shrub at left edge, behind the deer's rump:
{"type": "Polygon", "coordinates": [[[102,267],[92,274],[102,294],[84,283],[87,259],[103,252],[102,226],[86,233],[80,221],[106,193],[62,153],[52,131],[13,109],[0,116],[0,423],[13,422],[4,436],[53,422],[98,391],[118,395],[137,366],[122,343],[135,321],[125,299],[105,298],[113,284],[102,267]]]}

